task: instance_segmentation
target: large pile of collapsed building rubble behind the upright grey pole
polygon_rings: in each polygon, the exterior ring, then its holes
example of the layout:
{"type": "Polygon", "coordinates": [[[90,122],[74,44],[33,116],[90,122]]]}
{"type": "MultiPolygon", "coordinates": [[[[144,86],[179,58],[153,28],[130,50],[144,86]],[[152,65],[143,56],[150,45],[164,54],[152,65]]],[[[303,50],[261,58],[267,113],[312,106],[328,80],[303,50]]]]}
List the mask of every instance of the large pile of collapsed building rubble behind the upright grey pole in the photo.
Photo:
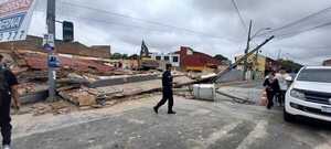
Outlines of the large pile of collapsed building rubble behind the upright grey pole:
{"type": "MultiPolygon", "coordinates": [[[[24,100],[26,98],[45,100],[47,55],[30,51],[14,51],[8,55],[14,62],[10,66],[20,82],[20,97],[24,100]]],[[[120,103],[119,98],[152,93],[162,87],[160,71],[124,71],[115,68],[104,60],[70,55],[60,55],[60,62],[61,67],[56,73],[56,93],[64,103],[39,103],[32,107],[34,115],[68,113],[68,103],[79,109],[111,106],[120,103]]],[[[181,72],[173,73],[178,84],[193,82],[181,72]]]]}

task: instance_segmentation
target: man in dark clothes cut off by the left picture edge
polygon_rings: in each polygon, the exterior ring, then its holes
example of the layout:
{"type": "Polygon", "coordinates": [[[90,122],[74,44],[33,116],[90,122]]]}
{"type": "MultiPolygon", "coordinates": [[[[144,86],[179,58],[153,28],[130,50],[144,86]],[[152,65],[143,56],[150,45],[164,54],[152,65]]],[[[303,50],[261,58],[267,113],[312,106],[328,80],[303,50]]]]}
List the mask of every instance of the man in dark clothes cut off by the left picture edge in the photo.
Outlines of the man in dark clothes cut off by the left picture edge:
{"type": "Polygon", "coordinates": [[[13,97],[13,104],[15,108],[20,108],[17,85],[17,77],[9,68],[3,65],[3,56],[0,54],[0,128],[3,149],[10,149],[11,143],[11,97],[13,97]]]}

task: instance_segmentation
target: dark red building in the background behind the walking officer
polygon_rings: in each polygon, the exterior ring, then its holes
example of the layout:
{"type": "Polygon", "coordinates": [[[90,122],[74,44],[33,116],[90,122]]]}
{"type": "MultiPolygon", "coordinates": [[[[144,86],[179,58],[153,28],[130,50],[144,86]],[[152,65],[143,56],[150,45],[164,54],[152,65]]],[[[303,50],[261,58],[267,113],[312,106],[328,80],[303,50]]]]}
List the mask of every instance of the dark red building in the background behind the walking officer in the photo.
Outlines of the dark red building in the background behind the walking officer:
{"type": "Polygon", "coordinates": [[[175,52],[180,54],[180,67],[183,71],[203,72],[217,70],[224,65],[221,61],[212,57],[211,55],[195,52],[191,47],[181,46],[181,50],[175,52]]]}

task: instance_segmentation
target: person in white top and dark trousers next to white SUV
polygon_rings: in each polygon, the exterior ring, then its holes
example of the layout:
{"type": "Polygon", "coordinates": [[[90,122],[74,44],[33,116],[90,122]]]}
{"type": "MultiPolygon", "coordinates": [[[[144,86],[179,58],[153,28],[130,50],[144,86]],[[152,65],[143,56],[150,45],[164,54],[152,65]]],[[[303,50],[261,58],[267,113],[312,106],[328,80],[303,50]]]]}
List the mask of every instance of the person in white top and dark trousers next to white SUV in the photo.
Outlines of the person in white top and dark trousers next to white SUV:
{"type": "Polygon", "coordinates": [[[278,81],[279,88],[280,88],[278,97],[277,97],[280,106],[282,106],[285,103],[285,95],[288,89],[287,78],[290,78],[290,77],[291,76],[284,68],[281,68],[279,71],[279,73],[276,74],[276,78],[278,81]]]}

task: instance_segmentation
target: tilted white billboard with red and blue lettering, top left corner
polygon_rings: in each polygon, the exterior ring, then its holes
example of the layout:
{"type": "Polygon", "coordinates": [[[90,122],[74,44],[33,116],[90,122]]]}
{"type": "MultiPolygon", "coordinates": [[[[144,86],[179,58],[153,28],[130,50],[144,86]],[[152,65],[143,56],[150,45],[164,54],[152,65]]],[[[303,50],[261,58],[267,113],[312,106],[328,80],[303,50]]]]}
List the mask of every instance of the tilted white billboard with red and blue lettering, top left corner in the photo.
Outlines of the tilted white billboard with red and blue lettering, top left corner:
{"type": "Polygon", "coordinates": [[[0,3],[0,42],[25,40],[36,0],[0,3]]]}

